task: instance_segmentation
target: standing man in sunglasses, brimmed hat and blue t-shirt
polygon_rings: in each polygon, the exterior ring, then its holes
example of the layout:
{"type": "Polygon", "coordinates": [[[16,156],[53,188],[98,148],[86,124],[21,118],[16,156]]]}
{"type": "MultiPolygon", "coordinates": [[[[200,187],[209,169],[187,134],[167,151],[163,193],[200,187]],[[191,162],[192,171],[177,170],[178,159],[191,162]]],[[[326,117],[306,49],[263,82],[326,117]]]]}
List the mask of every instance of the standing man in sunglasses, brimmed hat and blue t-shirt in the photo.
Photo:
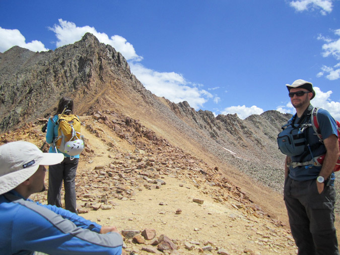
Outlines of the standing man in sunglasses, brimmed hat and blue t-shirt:
{"type": "MultiPolygon", "coordinates": [[[[310,123],[313,109],[310,100],[315,96],[312,83],[296,80],[292,85],[286,86],[291,103],[296,109],[293,124],[310,123]]],[[[284,198],[298,254],[338,255],[334,227],[333,172],[339,157],[337,126],[324,109],[319,109],[317,118],[323,141],[319,141],[312,126],[303,131],[306,139],[305,152],[286,157],[284,198]],[[304,164],[313,159],[312,155],[325,155],[322,166],[304,164]]]]}

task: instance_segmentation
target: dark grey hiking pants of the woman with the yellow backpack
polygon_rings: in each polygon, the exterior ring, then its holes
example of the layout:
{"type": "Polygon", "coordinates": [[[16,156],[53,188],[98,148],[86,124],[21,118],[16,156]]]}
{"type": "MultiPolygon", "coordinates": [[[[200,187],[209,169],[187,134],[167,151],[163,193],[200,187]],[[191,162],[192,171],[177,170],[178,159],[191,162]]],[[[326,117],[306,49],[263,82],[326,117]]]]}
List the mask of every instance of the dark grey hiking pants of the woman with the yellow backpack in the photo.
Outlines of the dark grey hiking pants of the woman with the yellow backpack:
{"type": "Polygon", "coordinates": [[[49,205],[61,207],[60,191],[63,181],[65,188],[65,209],[77,213],[75,179],[78,161],[78,158],[71,160],[69,157],[65,157],[61,163],[48,167],[47,203],[49,205]]]}

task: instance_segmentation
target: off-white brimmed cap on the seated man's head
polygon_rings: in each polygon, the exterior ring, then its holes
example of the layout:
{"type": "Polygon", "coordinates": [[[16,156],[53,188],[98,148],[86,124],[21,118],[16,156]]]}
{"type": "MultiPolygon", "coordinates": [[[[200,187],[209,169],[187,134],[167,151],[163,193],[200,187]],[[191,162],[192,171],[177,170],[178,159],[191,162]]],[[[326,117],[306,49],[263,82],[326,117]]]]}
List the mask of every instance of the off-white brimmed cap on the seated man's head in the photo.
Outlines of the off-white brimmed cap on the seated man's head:
{"type": "Polygon", "coordinates": [[[63,159],[62,153],[43,153],[24,141],[0,146],[0,195],[31,177],[39,165],[55,165],[63,159]]]}

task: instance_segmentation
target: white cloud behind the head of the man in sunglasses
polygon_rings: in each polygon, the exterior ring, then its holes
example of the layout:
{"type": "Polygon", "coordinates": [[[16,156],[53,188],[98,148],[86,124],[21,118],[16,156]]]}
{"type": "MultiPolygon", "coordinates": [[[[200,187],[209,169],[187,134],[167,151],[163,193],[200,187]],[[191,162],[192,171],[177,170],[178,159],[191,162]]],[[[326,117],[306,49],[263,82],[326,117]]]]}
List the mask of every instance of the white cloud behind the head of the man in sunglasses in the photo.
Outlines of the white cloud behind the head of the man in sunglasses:
{"type": "MultiPolygon", "coordinates": [[[[313,106],[317,106],[329,111],[333,118],[340,120],[340,102],[334,102],[330,100],[330,95],[333,93],[331,90],[322,92],[320,88],[313,87],[315,91],[315,97],[311,100],[313,106]]],[[[283,113],[295,113],[295,109],[291,102],[286,106],[278,106],[278,111],[283,113]]]]}

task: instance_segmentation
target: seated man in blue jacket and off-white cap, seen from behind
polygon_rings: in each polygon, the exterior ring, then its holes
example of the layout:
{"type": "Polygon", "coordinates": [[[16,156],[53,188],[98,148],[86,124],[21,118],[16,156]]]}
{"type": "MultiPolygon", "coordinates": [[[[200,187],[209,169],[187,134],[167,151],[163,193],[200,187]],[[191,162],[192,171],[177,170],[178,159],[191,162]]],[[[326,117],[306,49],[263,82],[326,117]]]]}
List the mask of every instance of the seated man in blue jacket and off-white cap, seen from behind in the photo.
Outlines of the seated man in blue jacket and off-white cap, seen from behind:
{"type": "Polygon", "coordinates": [[[45,190],[45,166],[63,159],[28,142],[0,146],[1,254],[121,254],[123,240],[114,226],[28,199],[45,190]]]}

